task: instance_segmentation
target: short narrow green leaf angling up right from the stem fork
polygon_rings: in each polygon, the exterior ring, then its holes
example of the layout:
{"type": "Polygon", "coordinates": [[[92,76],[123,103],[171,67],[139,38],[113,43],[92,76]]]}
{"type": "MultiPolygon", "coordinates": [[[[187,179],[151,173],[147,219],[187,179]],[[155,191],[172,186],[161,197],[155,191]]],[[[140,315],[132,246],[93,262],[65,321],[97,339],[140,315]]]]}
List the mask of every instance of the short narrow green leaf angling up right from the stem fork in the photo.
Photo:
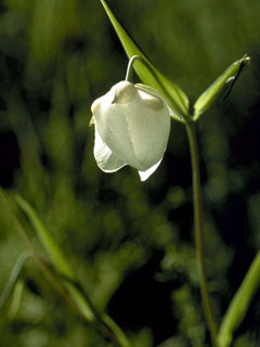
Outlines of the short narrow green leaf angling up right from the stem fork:
{"type": "MultiPolygon", "coordinates": [[[[233,63],[198,98],[194,104],[194,120],[205,113],[212,103],[221,95],[223,90],[233,87],[240,72],[250,62],[250,56],[244,55],[242,59],[233,63]]],[[[229,93],[227,91],[227,93],[229,93]]]]}

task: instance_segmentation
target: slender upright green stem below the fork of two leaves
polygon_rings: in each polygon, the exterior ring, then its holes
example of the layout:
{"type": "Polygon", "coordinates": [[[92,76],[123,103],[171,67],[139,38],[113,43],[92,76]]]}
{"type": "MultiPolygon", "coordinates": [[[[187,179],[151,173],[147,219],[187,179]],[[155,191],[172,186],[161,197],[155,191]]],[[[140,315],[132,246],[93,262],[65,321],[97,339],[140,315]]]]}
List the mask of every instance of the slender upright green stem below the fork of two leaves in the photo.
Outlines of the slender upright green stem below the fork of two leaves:
{"type": "Polygon", "coordinates": [[[194,229],[196,253],[199,270],[199,284],[203,298],[203,306],[206,316],[206,321],[210,332],[211,343],[213,347],[218,347],[217,342],[217,325],[214,323],[212,309],[209,299],[208,286],[206,281],[206,267],[203,249],[203,208],[202,208],[202,188],[199,175],[199,157],[195,133],[195,123],[186,121],[186,131],[191,150],[192,172],[193,172],[193,204],[194,204],[194,229]]]}

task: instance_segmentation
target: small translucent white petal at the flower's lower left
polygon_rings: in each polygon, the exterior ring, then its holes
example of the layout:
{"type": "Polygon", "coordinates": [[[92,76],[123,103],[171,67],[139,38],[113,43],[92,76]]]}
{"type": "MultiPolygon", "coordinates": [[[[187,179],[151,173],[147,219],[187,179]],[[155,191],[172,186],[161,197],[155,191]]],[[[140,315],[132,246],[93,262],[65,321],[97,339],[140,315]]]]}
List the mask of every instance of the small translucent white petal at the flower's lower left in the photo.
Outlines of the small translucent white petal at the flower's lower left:
{"type": "Polygon", "coordinates": [[[115,172],[127,165],[103,142],[95,127],[94,157],[98,166],[104,172],[115,172]]]}

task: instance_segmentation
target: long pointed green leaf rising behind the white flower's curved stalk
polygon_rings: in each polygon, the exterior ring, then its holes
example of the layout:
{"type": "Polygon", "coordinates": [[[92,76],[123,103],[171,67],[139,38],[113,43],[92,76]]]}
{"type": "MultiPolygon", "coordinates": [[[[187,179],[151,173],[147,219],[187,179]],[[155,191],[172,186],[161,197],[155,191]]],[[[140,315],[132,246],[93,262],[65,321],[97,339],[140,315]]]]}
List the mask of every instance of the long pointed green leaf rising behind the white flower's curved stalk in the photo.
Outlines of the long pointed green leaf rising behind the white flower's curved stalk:
{"type": "Polygon", "coordinates": [[[178,116],[187,116],[188,99],[185,93],[155,68],[148,57],[131,38],[130,34],[128,34],[128,31],[120,24],[110,8],[107,5],[106,1],[101,0],[101,2],[122,43],[128,57],[130,59],[133,55],[139,55],[147,63],[144,65],[140,61],[136,61],[134,64],[134,69],[140,79],[145,85],[157,89],[166,98],[170,107],[178,116]]]}

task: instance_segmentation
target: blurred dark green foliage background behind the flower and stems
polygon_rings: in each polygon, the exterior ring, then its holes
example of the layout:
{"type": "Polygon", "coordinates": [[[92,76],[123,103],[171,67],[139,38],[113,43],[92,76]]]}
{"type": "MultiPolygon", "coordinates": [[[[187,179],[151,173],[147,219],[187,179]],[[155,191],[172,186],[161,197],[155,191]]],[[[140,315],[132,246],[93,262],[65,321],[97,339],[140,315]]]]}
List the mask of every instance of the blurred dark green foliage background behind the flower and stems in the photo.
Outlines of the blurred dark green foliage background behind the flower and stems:
{"type": "MultiPolygon", "coordinates": [[[[260,2],[109,3],[155,66],[192,101],[232,62],[252,56],[229,99],[199,121],[207,268],[220,321],[260,246],[260,2]]],[[[134,346],[202,346],[208,336],[182,125],[172,124],[165,159],[145,183],[129,167],[105,175],[93,159],[90,105],[125,77],[126,67],[100,1],[3,1],[1,185],[39,213],[92,301],[134,346]]],[[[4,202],[0,206],[2,292],[27,245],[4,202]]],[[[20,219],[34,239],[25,216],[20,219]]],[[[0,314],[2,346],[112,346],[77,318],[32,260],[14,293],[0,314]]],[[[259,297],[236,333],[237,347],[260,342],[259,297]]]]}

